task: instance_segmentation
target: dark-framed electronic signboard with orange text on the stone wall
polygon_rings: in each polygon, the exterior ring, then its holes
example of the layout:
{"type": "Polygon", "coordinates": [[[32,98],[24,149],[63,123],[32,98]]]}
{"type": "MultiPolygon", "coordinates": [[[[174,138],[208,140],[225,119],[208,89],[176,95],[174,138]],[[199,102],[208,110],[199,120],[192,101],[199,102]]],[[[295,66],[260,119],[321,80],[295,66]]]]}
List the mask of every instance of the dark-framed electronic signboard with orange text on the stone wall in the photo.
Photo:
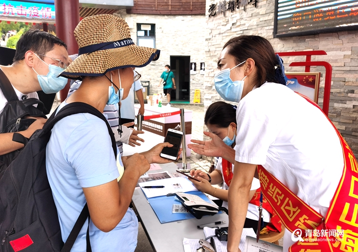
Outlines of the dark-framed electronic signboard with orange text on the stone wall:
{"type": "Polygon", "coordinates": [[[276,0],[274,37],[358,30],[356,0],[276,0]]]}

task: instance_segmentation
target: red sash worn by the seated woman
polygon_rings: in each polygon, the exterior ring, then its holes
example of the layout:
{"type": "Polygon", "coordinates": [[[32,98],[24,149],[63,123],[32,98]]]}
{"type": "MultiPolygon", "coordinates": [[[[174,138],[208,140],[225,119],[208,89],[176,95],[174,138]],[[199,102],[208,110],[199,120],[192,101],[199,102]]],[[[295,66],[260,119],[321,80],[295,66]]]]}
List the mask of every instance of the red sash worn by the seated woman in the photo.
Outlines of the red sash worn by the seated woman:
{"type": "MultiPolygon", "coordinates": [[[[222,158],[222,176],[226,184],[230,187],[231,180],[234,173],[232,172],[232,164],[226,159],[222,158]]],[[[249,203],[260,206],[260,193],[261,189],[257,189],[254,196],[249,203]]],[[[274,232],[281,232],[282,225],[281,220],[276,214],[276,212],[271,207],[270,203],[267,202],[265,197],[262,197],[262,208],[271,214],[270,223],[266,225],[267,229],[274,232]]]]}

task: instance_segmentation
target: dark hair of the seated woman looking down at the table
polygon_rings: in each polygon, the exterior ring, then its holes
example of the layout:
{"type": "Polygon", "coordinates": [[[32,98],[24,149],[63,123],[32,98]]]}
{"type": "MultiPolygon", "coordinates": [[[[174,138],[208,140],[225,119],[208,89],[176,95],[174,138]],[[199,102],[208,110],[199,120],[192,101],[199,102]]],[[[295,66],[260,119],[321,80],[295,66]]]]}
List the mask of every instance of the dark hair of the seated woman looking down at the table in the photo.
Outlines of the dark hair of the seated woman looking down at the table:
{"type": "Polygon", "coordinates": [[[230,123],[236,124],[236,109],[226,102],[214,102],[205,113],[205,125],[211,124],[218,128],[227,128],[230,123]]]}

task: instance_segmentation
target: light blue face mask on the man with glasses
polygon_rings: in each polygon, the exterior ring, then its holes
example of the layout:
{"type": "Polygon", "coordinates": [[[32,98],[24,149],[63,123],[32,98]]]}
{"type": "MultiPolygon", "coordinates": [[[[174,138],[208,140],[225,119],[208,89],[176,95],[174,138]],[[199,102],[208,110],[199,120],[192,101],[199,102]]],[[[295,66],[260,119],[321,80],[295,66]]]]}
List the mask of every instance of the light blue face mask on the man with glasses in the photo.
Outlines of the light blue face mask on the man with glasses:
{"type": "MultiPolygon", "coordinates": [[[[38,55],[35,54],[37,57],[38,55]]],[[[38,57],[43,63],[44,62],[40,57],[38,57]]],[[[67,84],[68,79],[64,77],[57,77],[63,69],[56,65],[49,65],[49,73],[47,75],[39,75],[32,67],[32,70],[37,74],[37,80],[40,84],[40,87],[45,94],[54,94],[57,93],[59,90],[63,89],[64,86],[67,84]]]]}

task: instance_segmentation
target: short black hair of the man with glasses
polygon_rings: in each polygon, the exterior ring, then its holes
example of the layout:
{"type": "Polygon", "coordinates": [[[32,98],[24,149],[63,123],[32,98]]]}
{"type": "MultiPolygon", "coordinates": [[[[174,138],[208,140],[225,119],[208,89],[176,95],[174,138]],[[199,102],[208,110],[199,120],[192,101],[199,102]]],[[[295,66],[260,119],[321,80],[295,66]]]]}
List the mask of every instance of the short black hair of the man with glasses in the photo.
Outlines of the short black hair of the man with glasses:
{"type": "Polygon", "coordinates": [[[13,62],[24,59],[27,51],[45,55],[54,48],[55,44],[62,45],[67,50],[67,45],[58,37],[40,30],[29,30],[17,41],[13,62]]]}

